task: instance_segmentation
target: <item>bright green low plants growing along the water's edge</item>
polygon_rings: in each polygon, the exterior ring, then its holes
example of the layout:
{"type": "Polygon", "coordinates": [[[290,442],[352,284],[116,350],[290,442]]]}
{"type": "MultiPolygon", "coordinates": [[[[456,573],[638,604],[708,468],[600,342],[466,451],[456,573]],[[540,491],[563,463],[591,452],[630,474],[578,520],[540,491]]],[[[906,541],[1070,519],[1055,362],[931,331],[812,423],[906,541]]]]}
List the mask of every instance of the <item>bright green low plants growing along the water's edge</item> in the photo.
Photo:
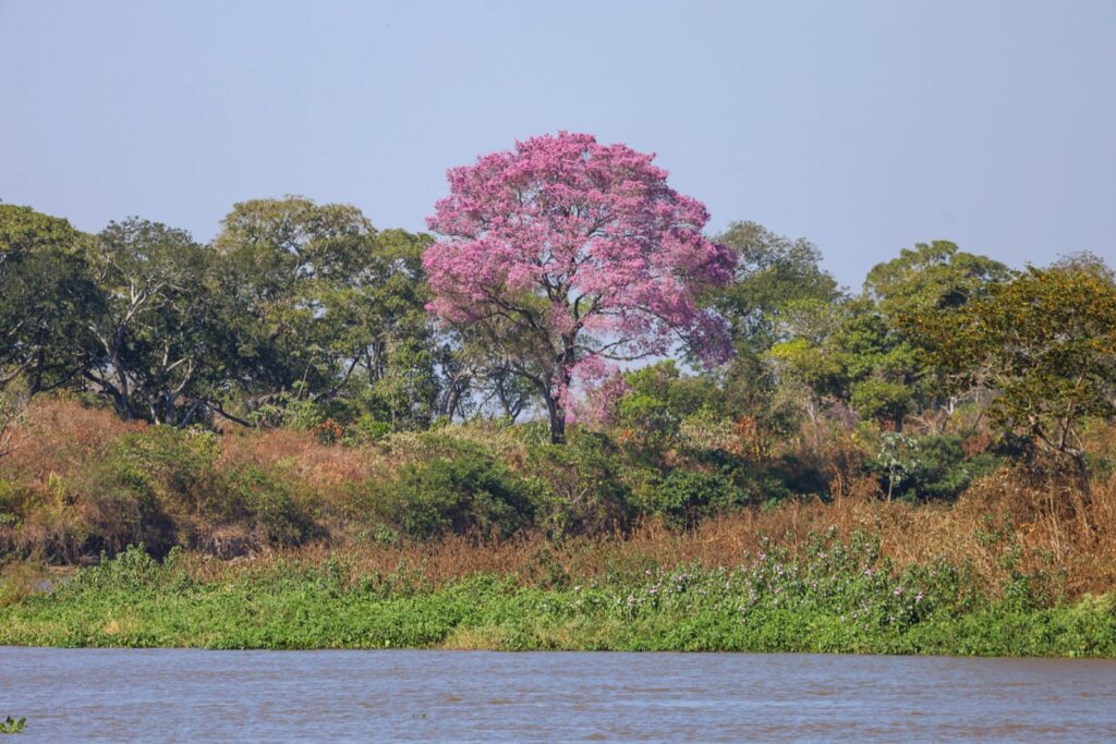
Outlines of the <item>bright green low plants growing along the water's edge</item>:
{"type": "MultiPolygon", "coordinates": [[[[614,559],[618,554],[614,554],[614,559]]],[[[1116,596],[1067,603],[1048,577],[990,595],[971,567],[898,569],[836,533],[770,544],[733,568],[616,560],[533,577],[424,564],[369,571],[356,553],[229,563],[131,550],[50,593],[9,593],[0,644],[205,648],[846,651],[1116,657],[1116,596]],[[646,568],[644,568],[646,567],[646,568]]],[[[629,557],[631,558],[631,557],[629,557]]]]}

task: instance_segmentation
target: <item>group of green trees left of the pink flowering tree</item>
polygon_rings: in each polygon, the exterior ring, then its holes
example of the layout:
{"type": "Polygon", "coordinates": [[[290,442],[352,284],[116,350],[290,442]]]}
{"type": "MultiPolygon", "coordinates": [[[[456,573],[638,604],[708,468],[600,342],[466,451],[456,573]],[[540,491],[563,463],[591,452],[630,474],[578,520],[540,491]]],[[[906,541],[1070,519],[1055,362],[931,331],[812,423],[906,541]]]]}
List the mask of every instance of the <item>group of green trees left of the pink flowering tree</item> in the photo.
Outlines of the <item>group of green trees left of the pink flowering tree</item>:
{"type": "Polygon", "coordinates": [[[179,427],[464,415],[466,375],[423,310],[429,240],[298,197],[235,205],[210,244],[0,205],[0,384],[179,427]]]}

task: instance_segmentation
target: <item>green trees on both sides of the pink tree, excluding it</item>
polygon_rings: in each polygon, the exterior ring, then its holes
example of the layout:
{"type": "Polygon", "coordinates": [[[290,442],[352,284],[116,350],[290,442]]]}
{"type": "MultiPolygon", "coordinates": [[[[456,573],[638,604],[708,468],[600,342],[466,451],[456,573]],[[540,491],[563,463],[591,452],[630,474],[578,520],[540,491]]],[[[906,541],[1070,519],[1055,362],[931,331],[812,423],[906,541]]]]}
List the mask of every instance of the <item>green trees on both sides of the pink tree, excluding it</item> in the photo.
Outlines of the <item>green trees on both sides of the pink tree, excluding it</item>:
{"type": "MultiPolygon", "coordinates": [[[[571,499],[619,489],[625,514],[655,502],[643,511],[693,523],[859,477],[888,499],[953,499],[1009,461],[1084,492],[1110,470],[1105,447],[1088,446],[1116,410],[1116,282],[1101,259],[1017,271],[934,241],[850,292],[806,240],[751,222],[714,240],[735,269],[702,302],[728,321],[732,359],[626,371],[605,406],[590,393],[571,447],[583,454],[562,457],[617,460],[584,485],[598,493],[571,499]]],[[[209,244],[136,218],[86,234],[0,204],[0,453],[27,399],[51,392],[126,422],[300,429],[338,445],[533,421],[539,389],[483,337],[426,311],[431,244],[294,196],[234,205],[209,244]]]]}

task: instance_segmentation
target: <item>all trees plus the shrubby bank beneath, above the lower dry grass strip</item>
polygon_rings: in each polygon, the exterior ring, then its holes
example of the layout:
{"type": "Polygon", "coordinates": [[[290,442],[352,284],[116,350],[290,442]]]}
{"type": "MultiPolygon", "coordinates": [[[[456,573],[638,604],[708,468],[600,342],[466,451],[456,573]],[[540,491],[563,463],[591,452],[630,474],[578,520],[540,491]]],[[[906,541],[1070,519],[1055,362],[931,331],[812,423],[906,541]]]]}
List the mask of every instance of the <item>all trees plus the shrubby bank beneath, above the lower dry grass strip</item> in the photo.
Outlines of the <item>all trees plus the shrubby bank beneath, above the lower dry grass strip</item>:
{"type": "Polygon", "coordinates": [[[206,244],[0,204],[0,544],[693,530],[865,484],[954,502],[1002,467],[1061,519],[1116,470],[1100,259],[933,241],[850,292],[807,240],[704,235],[652,160],[518,143],[450,171],[436,238],[300,196],[206,244]]]}

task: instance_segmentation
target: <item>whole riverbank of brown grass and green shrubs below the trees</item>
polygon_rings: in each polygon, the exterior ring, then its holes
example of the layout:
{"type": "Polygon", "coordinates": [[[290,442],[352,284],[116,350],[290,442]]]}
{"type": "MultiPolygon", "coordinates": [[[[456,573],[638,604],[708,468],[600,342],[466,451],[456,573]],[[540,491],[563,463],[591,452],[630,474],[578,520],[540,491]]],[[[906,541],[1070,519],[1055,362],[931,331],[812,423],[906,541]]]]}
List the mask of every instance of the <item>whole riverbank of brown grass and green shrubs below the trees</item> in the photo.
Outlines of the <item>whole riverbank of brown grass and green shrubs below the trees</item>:
{"type": "Polygon", "coordinates": [[[778,457],[483,422],[339,443],[45,398],[16,434],[0,644],[1116,657],[1110,426],[1089,489],[969,442],[894,501],[865,432],[778,457]]]}

